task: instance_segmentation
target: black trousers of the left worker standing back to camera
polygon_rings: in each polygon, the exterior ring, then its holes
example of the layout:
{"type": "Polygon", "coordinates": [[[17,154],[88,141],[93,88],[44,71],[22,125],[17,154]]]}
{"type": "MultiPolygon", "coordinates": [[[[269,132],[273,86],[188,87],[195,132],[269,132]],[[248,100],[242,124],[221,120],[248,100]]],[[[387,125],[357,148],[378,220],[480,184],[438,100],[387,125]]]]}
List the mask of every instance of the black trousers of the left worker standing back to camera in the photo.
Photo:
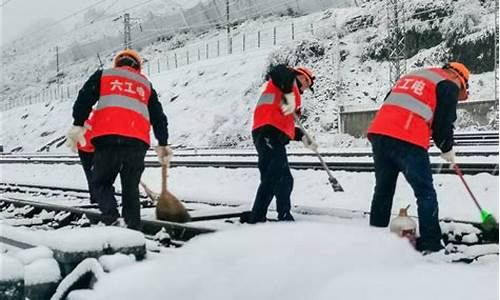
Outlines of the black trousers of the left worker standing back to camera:
{"type": "Polygon", "coordinates": [[[120,174],[123,219],[128,228],[140,229],[139,182],[144,171],[146,149],[119,144],[95,147],[92,185],[104,223],[109,225],[120,216],[113,187],[120,174]]]}

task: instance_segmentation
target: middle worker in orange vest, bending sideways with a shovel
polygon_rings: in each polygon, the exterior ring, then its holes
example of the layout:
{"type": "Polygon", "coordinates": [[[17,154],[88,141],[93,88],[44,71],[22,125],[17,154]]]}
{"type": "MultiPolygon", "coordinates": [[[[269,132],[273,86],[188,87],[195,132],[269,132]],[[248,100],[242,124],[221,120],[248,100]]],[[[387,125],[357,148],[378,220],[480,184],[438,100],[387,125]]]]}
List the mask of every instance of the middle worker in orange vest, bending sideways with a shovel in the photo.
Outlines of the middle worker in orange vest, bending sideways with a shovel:
{"type": "Polygon", "coordinates": [[[300,115],[301,94],[312,89],[315,77],[305,67],[290,68],[278,65],[266,76],[264,90],[254,112],[252,138],[258,153],[260,185],[252,212],[241,221],[265,222],[269,204],[276,197],[279,221],[294,221],[290,213],[290,194],[293,177],[288,165],[285,146],[290,140],[302,141],[306,147],[317,149],[299,128],[293,114],[300,115]]]}

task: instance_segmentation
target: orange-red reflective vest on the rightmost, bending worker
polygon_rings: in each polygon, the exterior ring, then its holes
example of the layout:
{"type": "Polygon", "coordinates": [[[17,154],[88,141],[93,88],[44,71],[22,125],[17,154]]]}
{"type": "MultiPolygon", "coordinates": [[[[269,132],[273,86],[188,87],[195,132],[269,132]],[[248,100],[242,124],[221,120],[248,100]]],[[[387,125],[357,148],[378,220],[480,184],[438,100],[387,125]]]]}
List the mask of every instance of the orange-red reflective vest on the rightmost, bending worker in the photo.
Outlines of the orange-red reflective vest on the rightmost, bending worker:
{"type": "Polygon", "coordinates": [[[390,136],[429,148],[436,109],[436,86],[451,80],[441,68],[428,68],[402,76],[373,119],[368,133],[390,136]]]}

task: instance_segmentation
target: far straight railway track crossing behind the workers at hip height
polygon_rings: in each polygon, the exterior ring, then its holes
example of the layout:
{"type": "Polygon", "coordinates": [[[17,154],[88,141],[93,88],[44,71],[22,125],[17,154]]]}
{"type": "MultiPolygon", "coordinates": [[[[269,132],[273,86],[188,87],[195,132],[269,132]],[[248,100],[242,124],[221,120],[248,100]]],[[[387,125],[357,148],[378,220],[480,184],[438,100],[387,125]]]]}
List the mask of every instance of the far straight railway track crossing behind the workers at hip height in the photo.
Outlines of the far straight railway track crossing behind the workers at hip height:
{"type": "MultiPolygon", "coordinates": [[[[458,146],[485,146],[483,149],[470,149],[459,147],[456,149],[460,166],[464,174],[474,175],[478,173],[490,173],[498,175],[498,132],[473,132],[456,133],[455,141],[458,146]],[[477,161],[471,162],[472,157],[477,161]],[[485,157],[484,159],[482,157],[485,157]],[[460,162],[463,158],[464,162],[460,162]]],[[[328,167],[332,171],[349,172],[373,172],[374,165],[371,160],[370,149],[356,150],[346,148],[337,151],[325,151],[321,153],[326,159],[328,167]]],[[[321,169],[321,164],[314,154],[290,150],[290,167],[293,169],[321,169]]],[[[440,155],[437,149],[431,149],[431,168],[433,173],[448,174],[454,171],[449,164],[441,163],[434,159],[440,155]],[[435,161],[433,161],[435,160],[435,161]]],[[[78,157],[74,154],[45,154],[45,153],[4,153],[0,156],[0,164],[79,164],[78,157]]],[[[146,167],[159,167],[156,162],[154,151],[148,151],[146,155],[146,167]]],[[[217,168],[256,168],[257,154],[254,149],[215,149],[196,148],[188,149],[179,147],[171,164],[172,167],[217,167],[217,168]]]]}

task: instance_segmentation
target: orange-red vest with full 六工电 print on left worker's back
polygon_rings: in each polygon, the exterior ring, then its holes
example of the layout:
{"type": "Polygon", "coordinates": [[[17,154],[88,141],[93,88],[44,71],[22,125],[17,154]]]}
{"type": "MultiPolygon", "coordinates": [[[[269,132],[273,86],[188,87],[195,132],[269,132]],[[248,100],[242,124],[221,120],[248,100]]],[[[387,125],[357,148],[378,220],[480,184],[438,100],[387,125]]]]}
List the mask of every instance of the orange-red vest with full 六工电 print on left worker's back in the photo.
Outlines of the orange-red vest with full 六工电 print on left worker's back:
{"type": "Polygon", "coordinates": [[[139,71],[130,67],[103,70],[92,138],[120,135],[150,145],[150,95],[151,83],[139,71]]]}

